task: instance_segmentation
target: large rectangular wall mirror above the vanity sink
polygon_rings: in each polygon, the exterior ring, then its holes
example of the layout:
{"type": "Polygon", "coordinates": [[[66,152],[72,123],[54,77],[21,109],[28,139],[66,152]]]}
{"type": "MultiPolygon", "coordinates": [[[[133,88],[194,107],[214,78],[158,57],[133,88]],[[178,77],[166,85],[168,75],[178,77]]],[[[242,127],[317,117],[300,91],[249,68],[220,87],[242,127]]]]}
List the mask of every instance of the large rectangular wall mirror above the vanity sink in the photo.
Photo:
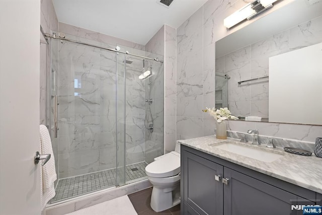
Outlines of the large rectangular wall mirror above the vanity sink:
{"type": "MultiPolygon", "coordinates": [[[[277,112],[278,108],[278,105],[270,105],[279,95],[276,92],[283,92],[285,87],[291,85],[299,86],[299,83],[307,80],[303,77],[319,80],[312,84],[320,83],[321,86],[322,60],[316,62],[317,74],[312,75],[306,69],[302,69],[294,76],[288,74],[293,78],[291,82],[284,80],[285,85],[271,80],[270,75],[274,71],[269,67],[275,56],[285,53],[292,55],[293,52],[321,42],[322,1],[320,0],[296,0],[218,40],[215,62],[215,107],[228,107],[231,113],[241,120],[322,125],[322,108],[317,108],[319,111],[314,111],[311,116],[304,113],[310,106],[315,107],[317,104],[320,105],[318,107],[322,107],[322,93],[315,91],[313,94],[318,95],[308,98],[307,95],[311,95],[312,91],[308,91],[306,87],[303,87],[301,93],[297,93],[296,96],[281,94],[283,99],[280,99],[278,104],[280,107],[297,104],[300,111],[297,114],[306,115],[305,117],[297,117],[293,112],[290,116],[288,109],[284,109],[278,117],[270,118],[270,114],[277,112]]],[[[319,53],[317,59],[322,59],[322,52],[319,53]]],[[[304,68],[311,66],[306,60],[300,63],[304,64],[304,68]]],[[[316,86],[313,89],[321,88],[316,86]]]]}

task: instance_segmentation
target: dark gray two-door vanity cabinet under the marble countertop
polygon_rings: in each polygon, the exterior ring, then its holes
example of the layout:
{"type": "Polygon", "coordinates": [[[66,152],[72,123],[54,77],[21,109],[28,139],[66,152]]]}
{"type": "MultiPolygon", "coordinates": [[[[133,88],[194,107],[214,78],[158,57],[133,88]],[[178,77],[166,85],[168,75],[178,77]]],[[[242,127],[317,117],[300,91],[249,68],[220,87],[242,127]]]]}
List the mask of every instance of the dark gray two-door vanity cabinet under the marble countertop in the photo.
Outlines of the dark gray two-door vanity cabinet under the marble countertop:
{"type": "Polygon", "coordinates": [[[315,198],[313,191],[185,146],[181,146],[181,168],[182,214],[290,214],[291,199],[315,198]],[[303,193],[304,198],[294,193],[303,193]]]}

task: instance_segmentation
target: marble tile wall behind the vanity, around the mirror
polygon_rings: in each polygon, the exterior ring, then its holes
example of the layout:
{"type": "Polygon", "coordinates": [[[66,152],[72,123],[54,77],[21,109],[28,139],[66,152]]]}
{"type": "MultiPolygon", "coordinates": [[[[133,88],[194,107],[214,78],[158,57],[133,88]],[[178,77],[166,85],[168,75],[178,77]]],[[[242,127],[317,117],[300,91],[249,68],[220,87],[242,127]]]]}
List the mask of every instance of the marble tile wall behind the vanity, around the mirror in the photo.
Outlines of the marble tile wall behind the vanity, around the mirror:
{"type": "MultiPolygon", "coordinates": [[[[177,139],[214,134],[214,119],[201,109],[213,107],[215,103],[215,42],[261,18],[258,16],[231,30],[223,26],[225,17],[250,2],[208,0],[177,29],[177,139]]],[[[270,11],[289,2],[284,0],[270,11]]],[[[228,129],[238,132],[259,129],[263,135],[309,142],[314,142],[322,133],[322,126],[317,125],[245,121],[228,121],[228,129]]]]}

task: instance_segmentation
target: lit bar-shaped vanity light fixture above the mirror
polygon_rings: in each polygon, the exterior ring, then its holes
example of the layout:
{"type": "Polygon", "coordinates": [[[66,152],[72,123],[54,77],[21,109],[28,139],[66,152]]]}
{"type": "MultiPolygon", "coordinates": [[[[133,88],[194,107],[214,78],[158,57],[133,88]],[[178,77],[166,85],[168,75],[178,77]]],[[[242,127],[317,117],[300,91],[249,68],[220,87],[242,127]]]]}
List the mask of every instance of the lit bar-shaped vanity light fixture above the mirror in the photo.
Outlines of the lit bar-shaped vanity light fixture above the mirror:
{"type": "Polygon", "coordinates": [[[243,8],[231,14],[229,17],[223,20],[223,25],[226,28],[231,28],[232,26],[244,21],[245,19],[250,20],[253,17],[263,13],[267,9],[273,7],[273,3],[277,0],[256,0],[252,3],[247,4],[243,8]]]}

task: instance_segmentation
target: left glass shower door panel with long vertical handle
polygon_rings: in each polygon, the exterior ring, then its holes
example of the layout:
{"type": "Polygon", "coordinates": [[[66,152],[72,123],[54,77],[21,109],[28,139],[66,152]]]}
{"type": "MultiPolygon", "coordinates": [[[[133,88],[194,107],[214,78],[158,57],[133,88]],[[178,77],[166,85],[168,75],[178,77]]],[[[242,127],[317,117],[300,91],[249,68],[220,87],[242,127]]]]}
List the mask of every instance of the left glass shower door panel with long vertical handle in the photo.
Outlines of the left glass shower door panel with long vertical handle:
{"type": "MultiPolygon", "coordinates": [[[[77,40],[72,35],[67,37],[77,40]]],[[[68,41],[53,43],[58,46],[57,69],[52,69],[55,73],[51,82],[56,86],[52,93],[59,103],[59,130],[55,155],[58,183],[52,203],[116,186],[119,179],[125,178],[122,165],[118,166],[119,173],[116,169],[116,152],[121,157],[117,140],[122,141],[117,138],[117,54],[68,41]]],[[[118,90],[121,92],[121,88],[118,90]]],[[[121,101],[124,103],[124,99],[121,101]]],[[[54,107],[52,102],[53,113],[54,107]]]]}

